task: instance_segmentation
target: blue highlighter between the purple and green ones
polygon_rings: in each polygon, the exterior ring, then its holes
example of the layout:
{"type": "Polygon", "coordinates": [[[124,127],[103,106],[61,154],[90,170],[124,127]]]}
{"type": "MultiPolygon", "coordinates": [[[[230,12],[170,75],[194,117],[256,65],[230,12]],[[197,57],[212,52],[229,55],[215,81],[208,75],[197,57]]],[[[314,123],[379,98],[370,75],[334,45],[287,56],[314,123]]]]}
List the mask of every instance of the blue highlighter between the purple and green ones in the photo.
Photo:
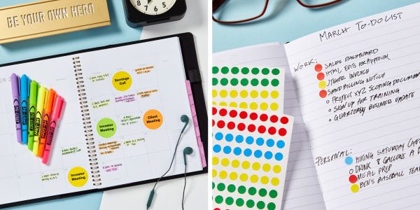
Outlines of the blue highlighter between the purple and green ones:
{"type": "Polygon", "coordinates": [[[28,144],[28,98],[31,80],[24,74],[20,78],[20,100],[22,104],[22,143],[28,144]]]}

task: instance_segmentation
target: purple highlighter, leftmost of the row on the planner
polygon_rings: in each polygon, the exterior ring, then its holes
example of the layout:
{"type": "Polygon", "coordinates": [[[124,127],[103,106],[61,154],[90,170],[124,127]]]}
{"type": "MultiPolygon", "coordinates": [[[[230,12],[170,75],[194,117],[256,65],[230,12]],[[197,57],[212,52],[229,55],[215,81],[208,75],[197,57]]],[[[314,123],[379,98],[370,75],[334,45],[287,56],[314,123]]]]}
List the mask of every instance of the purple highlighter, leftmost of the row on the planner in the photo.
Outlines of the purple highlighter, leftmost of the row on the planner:
{"type": "Polygon", "coordinates": [[[15,73],[10,76],[12,81],[13,109],[15,110],[16,138],[22,143],[22,125],[20,124],[20,77],[15,73]]]}

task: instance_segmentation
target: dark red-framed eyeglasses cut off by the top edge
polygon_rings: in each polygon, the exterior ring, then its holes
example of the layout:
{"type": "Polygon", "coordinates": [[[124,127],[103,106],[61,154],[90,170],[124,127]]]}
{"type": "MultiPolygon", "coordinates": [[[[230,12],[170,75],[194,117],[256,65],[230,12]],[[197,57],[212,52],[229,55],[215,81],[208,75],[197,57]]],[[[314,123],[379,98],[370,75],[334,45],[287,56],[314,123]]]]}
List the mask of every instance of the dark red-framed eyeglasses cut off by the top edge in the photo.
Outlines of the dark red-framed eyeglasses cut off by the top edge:
{"type": "MultiPolygon", "coordinates": [[[[269,0],[213,0],[213,20],[221,24],[235,24],[255,20],[264,15],[269,0]]],[[[297,0],[307,8],[318,8],[342,0],[297,0]]]]}

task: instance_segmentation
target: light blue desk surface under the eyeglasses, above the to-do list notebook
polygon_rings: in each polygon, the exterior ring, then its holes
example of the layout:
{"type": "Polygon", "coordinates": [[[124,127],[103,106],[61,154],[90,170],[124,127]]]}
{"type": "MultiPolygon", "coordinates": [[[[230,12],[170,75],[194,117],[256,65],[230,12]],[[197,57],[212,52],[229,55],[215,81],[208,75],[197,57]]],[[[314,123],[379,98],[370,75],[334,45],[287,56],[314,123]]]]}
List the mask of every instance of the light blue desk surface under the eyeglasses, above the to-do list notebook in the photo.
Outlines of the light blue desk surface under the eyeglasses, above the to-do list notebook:
{"type": "Polygon", "coordinates": [[[213,52],[260,43],[285,43],[328,27],[416,2],[420,1],[343,0],[325,8],[310,9],[300,6],[296,0],[270,0],[261,20],[243,25],[213,22],[213,52]]]}

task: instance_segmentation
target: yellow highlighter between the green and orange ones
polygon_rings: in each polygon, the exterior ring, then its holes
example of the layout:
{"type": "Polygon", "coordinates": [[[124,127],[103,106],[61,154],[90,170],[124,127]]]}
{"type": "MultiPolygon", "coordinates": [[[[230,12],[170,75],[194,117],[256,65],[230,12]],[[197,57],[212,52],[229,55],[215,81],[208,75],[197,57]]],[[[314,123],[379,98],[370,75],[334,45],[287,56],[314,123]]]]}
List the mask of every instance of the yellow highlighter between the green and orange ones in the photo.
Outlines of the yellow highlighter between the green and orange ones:
{"type": "Polygon", "coordinates": [[[47,94],[47,89],[41,86],[38,90],[38,100],[36,101],[36,115],[35,115],[35,126],[34,126],[34,148],[32,153],[38,155],[38,146],[39,146],[39,133],[41,130],[41,121],[42,121],[42,111],[45,101],[45,95],[47,94]]]}

